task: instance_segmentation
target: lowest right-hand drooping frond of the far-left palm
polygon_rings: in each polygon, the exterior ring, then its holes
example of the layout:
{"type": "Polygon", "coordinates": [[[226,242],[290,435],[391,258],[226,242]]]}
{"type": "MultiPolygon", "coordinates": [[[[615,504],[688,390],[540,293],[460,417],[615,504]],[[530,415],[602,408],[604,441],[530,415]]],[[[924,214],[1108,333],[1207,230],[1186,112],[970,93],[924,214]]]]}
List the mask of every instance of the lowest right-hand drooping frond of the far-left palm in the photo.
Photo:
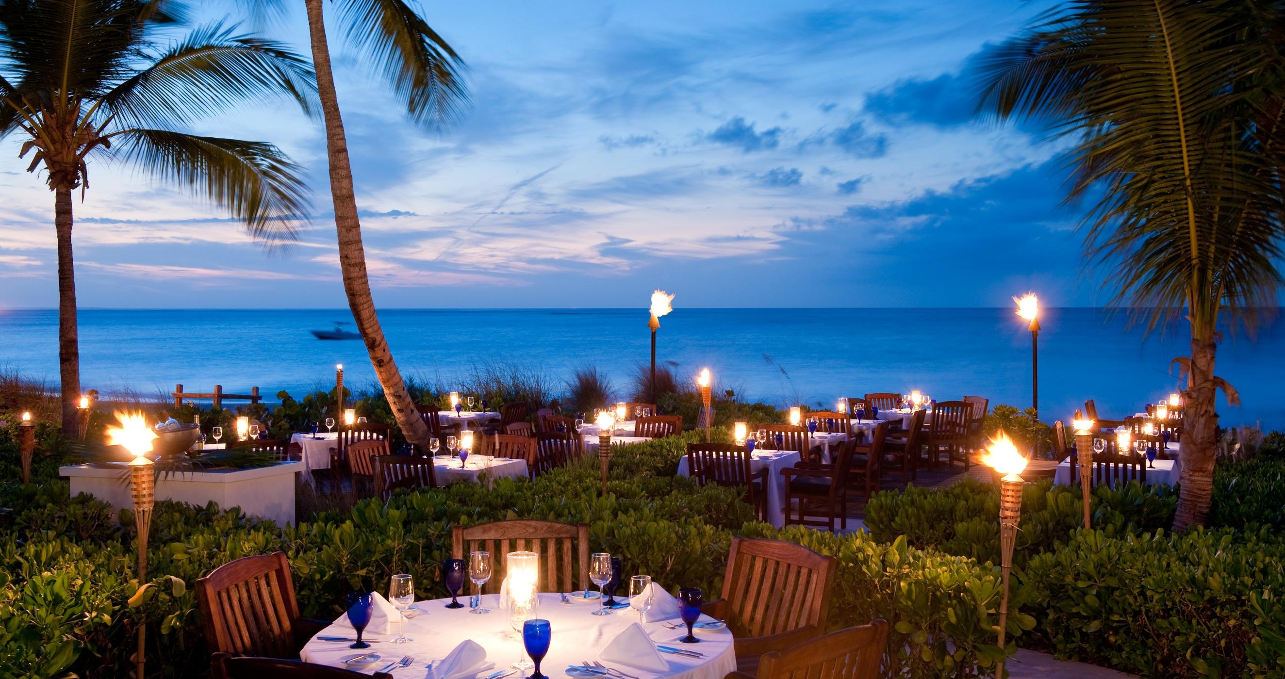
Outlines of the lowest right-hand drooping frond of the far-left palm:
{"type": "Polygon", "coordinates": [[[112,142],[116,158],[208,198],[269,241],[293,239],[308,204],[301,168],[271,144],[140,128],[112,142]]]}

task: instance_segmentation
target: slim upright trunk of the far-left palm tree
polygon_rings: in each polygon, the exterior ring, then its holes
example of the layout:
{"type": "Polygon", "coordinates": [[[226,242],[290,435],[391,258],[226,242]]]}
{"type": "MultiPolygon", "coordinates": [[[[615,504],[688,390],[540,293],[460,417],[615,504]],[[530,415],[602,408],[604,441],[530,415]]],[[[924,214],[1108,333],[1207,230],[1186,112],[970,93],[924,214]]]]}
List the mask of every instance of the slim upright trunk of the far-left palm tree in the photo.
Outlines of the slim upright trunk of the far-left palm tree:
{"type": "Polygon", "coordinates": [[[76,330],[76,268],[72,262],[72,190],[54,190],[58,232],[58,370],[62,377],[63,436],[80,436],[80,338],[76,330]]]}

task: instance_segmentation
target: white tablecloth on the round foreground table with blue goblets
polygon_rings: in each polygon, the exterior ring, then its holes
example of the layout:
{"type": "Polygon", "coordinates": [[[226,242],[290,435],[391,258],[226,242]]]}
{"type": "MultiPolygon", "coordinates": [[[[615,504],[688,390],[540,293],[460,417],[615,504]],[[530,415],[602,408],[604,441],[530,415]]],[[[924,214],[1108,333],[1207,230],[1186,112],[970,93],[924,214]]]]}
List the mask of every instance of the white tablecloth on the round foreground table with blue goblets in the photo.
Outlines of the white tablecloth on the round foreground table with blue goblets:
{"type": "MultiPolygon", "coordinates": [[[[632,575],[632,574],[630,574],[632,575]]],[[[502,578],[502,574],[495,574],[502,578]]],[[[472,583],[468,584],[472,589],[472,583]]],[[[662,584],[663,587],[663,584],[662,584]]],[[[626,594],[628,584],[625,584],[626,594]]],[[[716,593],[705,593],[712,601],[716,593]]],[[[450,599],[421,601],[416,606],[419,614],[405,623],[394,623],[391,634],[364,635],[373,643],[365,651],[348,648],[347,642],[310,640],[302,651],[299,658],[306,662],[321,665],[342,666],[339,658],[357,653],[375,652],[380,660],[373,665],[361,667],[361,671],[370,674],[384,665],[400,660],[402,656],[414,656],[415,661],[409,667],[397,666],[391,674],[397,679],[436,679],[428,670],[428,664],[446,657],[460,642],[472,639],[486,648],[487,664],[493,667],[479,670],[477,676],[486,675],[499,669],[508,667],[518,660],[522,653],[522,634],[509,626],[509,617],[500,611],[500,597],[487,594],[482,597],[482,605],[490,608],[486,615],[474,615],[464,608],[446,608],[450,599]],[[388,643],[398,634],[405,634],[411,642],[388,643]]],[[[617,590],[617,601],[628,601],[617,590]]],[[[461,592],[460,602],[468,603],[468,597],[461,592]]],[[[612,615],[591,615],[599,607],[598,601],[589,603],[560,603],[558,594],[540,594],[540,607],[536,616],[549,620],[553,632],[553,642],[549,644],[549,655],[540,664],[541,674],[553,679],[567,676],[569,665],[581,665],[585,661],[599,660],[599,652],[631,624],[637,623],[639,616],[631,608],[617,608],[612,615]]],[[[702,620],[708,617],[702,616],[702,620]]],[[[687,633],[684,629],[667,629],[663,623],[644,623],[651,640],[676,648],[691,648],[704,653],[704,657],[693,658],[671,653],[660,653],[660,658],[668,665],[668,670],[654,673],[640,670],[630,665],[605,662],[626,674],[632,674],[639,679],[723,679],[727,673],[736,670],[736,653],[732,646],[732,635],[726,629],[696,630],[700,643],[685,644],[678,639],[687,633]]],[[[352,628],[330,625],[319,637],[346,637],[355,638],[352,628]]],[[[531,674],[529,671],[513,675],[510,679],[520,679],[531,674]]]]}

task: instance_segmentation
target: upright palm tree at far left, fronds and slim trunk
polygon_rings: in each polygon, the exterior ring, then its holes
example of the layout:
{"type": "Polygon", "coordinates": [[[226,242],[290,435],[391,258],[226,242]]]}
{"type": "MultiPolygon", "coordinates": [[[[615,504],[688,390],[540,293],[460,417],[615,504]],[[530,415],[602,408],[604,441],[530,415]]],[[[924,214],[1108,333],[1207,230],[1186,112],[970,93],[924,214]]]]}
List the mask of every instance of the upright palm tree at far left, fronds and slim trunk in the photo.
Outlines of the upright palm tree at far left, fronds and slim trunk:
{"type": "Polygon", "coordinates": [[[263,237],[290,235],[306,191],[271,144],[175,128],[248,98],[306,104],[312,69],[275,42],[217,24],[168,46],[159,0],[0,0],[0,137],[21,133],[30,172],[44,169],[58,234],[58,353],[63,431],[77,426],[80,352],[72,266],[72,191],[93,158],[130,162],[227,208],[263,237]]]}

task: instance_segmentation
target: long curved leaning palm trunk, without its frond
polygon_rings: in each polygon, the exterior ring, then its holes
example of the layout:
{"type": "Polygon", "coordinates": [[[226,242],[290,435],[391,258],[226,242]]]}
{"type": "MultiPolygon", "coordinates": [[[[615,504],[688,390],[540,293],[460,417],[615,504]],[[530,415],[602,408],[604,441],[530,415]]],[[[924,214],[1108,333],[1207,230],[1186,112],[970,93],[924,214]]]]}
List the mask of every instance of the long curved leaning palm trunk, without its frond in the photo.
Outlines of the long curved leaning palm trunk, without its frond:
{"type": "Polygon", "coordinates": [[[325,121],[326,154],[330,163],[330,196],[334,200],[334,226],[339,236],[339,268],[343,289],[348,294],[348,307],[357,322],[357,331],[366,343],[375,377],[384,389],[388,406],[397,418],[406,440],[420,451],[428,451],[428,425],[419,417],[415,402],[406,391],[397,363],[384,340],[384,331],[375,314],[375,300],[370,297],[370,279],[366,276],[366,253],[361,244],[361,222],[357,218],[357,198],[352,190],[352,166],[348,162],[348,141],[339,116],[339,98],[334,89],[330,68],[330,50],[325,39],[321,0],[305,0],[308,13],[308,33],[312,39],[312,64],[317,74],[317,95],[325,121]]]}

